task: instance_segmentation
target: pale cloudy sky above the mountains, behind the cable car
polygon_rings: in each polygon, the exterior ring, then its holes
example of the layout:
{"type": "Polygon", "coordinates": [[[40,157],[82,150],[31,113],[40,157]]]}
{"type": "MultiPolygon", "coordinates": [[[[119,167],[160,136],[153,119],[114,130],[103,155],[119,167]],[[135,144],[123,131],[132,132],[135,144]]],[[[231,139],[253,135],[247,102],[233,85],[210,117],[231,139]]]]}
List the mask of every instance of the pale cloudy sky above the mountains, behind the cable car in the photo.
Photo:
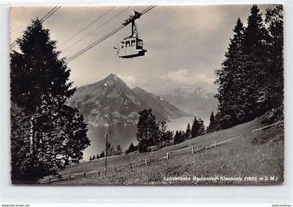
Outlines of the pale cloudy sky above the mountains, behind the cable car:
{"type": "MultiPolygon", "coordinates": [[[[250,4],[209,6],[156,6],[137,20],[146,55],[119,59],[114,46],[131,33],[130,25],[102,43],[68,62],[70,80],[80,87],[96,83],[110,73],[119,76],[129,87],[142,87],[155,94],[174,89],[193,92],[202,87],[216,93],[214,69],[225,59],[225,51],[233,36],[238,17],[247,25],[250,4]]],[[[263,15],[273,5],[258,5],[263,15]]],[[[10,8],[10,43],[22,36],[31,19],[43,17],[53,6],[21,6],[10,8]]],[[[70,57],[113,29],[119,27],[133,10],[147,6],[61,6],[44,23],[56,40],[61,57],[70,57]],[[108,12],[80,34],[64,43],[82,28],[108,12]],[[112,17],[114,17],[110,22],[112,17]],[[105,22],[107,22],[105,24],[105,22]],[[104,24],[102,27],[101,25],[104,24]],[[93,34],[87,36],[94,29],[93,34]],[[79,41],[84,36],[84,40],[79,41]]],[[[17,47],[13,48],[17,50],[17,47]]]]}

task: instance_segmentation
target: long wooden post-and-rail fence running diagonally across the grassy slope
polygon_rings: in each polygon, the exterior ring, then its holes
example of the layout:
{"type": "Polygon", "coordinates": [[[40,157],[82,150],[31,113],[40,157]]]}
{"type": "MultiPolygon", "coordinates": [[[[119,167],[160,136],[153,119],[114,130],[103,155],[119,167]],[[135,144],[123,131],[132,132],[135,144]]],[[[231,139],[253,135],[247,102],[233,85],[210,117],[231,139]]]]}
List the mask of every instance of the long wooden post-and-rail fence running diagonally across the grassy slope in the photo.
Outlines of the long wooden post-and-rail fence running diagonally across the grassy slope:
{"type": "MultiPolygon", "coordinates": [[[[202,150],[208,150],[209,148],[212,147],[217,147],[218,145],[224,145],[225,143],[228,143],[230,141],[235,140],[236,138],[241,138],[241,141],[243,140],[243,136],[242,134],[239,136],[235,136],[233,138],[228,138],[226,140],[223,141],[213,141],[213,142],[208,142],[205,144],[201,144],[201,145],[197,145],[197,146],[188,146],[185,148],[181,148],[181,149],[176,149],[170,152],[166,153],[166,156],[163,157],[158,157],[158,158],[145,158],[142,160],[138,160],[136,162],[130,162],[129,164],[123,164],[121,166],[119,166],[119,169],[117,168],[117,166],[114,166],[112,168],[107,168],[107,175],[108,174],[114,174],[117,173],[118,171],[123,171],[124,169],[133,169],[134,167],[138,167],[138,166],[148,166],[149,164],[152,164],[153,162],[161,162],[163,160],[167,161],[168,159],[171,159],[172,157],[176,157],[179,155],[188,155],[188,154],[192,154],[194,155],[196,152],[200,152],[202,150]],[[200,148],[196,148],[199,147],[200,148]]],[[[104,169],[105,170],[105,169],[104,169]]],[[[47,178],[44,179],[41,183],[42,184],[50,184],[50,183],[54,183],[54,182],[61,182],[62,180],[71,180],[71,179],[75,179],[75,178],[86,178],[87,176],[90,175],[94,175],[96,174],[96,176],[102,176],[102,170],[98,169],[96,171],[84,171],[82,173],[72,173],[69,175],[58,175],[56,177],[53,178],[47,178]]]]}

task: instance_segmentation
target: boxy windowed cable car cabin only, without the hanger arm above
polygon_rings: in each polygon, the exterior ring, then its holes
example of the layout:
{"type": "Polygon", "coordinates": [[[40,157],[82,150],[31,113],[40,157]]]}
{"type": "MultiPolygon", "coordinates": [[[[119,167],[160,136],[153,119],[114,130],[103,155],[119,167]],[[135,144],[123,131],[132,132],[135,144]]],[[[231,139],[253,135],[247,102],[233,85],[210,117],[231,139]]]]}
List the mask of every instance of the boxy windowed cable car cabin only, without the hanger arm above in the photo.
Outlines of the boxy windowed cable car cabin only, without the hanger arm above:
{"type": "Polygon", "coordinates": [[[144,56],[147,50],[143,48],[143,41],[137,37],[125,38],[117,48],[117,56],[121,58],[133,58],[144,56]]]}

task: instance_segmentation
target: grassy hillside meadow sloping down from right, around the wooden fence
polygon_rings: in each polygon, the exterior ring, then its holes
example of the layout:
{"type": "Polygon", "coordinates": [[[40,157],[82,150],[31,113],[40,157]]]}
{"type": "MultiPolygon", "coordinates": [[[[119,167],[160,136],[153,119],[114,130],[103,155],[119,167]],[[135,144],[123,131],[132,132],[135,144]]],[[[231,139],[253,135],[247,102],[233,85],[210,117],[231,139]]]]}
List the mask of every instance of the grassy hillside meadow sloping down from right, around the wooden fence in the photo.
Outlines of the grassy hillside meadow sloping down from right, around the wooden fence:
{"type": "MultiPolygon", "coordinates": [[[[196,184],[280,184],[283,183],[283,160],[284,160],[284,140],[283,128],[273,128],[261,133],[252,133],[253,129],[261,126],[261,119],[257,118],[252,122],[240,124],[231,129],[216,131],[211,134],[205,134],[197,138],[190,139],[178,145],[171,145],[156,152],[137,153],[130,155],[121,155],[108,159],[109,169],[117,167],[117,173],[107,176],[89,175],[87,178],[75,178],[73,180],[63,180],[54,185],[196,185],[196,184]],[[211,141],[222,141],[243,135],[243,141],[236,139],[226,145],[220,145],[217,148],[210,148],[196,152],[195,155],[187,153],[170,159],[151,162],[148,166],[121,167],[144,158],[160,158],[166,155],[166,152],[172,152],[179,148],[190,148],[200,146],[211,141]],[[256,141],[256,142],[255,142],[256,141]],[[237,177],[257,176],[257,181],[165,181],[163,178],[168,176],[188,176],[197,177],[237,177]],[[278,176],[276,181],[260,181],[260,176],[278,176]]],[[[77,164],[68,167],[60,173],[68,175],[84,171],[100,170],[103,174],[105,165],[104,160],[97,160],[77,164]]]]}

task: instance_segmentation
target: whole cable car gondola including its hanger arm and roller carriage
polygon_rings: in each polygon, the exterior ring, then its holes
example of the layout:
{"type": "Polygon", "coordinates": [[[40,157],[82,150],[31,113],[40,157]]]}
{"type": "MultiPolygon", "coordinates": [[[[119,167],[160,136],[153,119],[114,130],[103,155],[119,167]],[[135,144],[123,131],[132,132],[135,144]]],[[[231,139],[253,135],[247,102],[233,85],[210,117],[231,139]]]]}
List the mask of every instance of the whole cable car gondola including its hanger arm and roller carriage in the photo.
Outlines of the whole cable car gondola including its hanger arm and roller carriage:
{"type": "Polygon", "coordinates": [[[141,13],[134,10],[130,17],[123,23],[124,26],[131,23],[131,35],[124,38],[123,41],[120,41],[117,47],[114,47],[114,49],[117,49],[117,56],[119,58],[140,57],[144,56],[144,53],[147,52],[143,48],[142,39],[138,38],[137,26],[135,24],[135,20],[140,18],[141,15],[141,13]]]}

